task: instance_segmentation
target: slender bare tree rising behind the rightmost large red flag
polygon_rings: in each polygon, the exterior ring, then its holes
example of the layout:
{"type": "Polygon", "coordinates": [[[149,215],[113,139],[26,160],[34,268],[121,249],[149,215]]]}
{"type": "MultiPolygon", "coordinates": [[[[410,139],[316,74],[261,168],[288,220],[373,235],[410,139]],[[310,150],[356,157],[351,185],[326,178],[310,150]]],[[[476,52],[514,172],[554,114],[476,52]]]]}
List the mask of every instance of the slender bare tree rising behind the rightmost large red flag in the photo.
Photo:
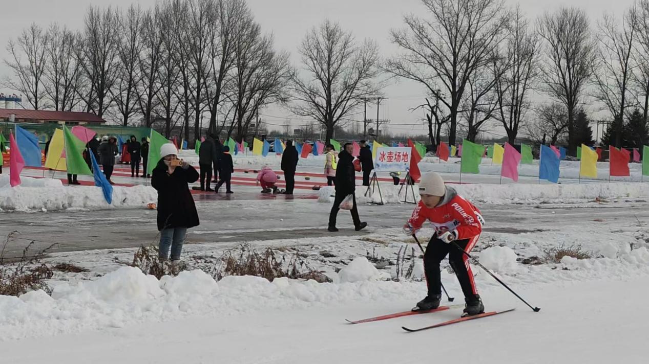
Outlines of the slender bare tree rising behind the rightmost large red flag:
{"type": "Polygon", "coordinates": [[[624,111],[631,106],[630,86],[635,63],[633,47],[638,29],[635,8],[624,14],[622,25],[611,14],[604,14],[599,23],[600,60],[593,71],[596,91],[594,97],[602,102],[613,116],[615,146],[622,146],[624,111]]]}

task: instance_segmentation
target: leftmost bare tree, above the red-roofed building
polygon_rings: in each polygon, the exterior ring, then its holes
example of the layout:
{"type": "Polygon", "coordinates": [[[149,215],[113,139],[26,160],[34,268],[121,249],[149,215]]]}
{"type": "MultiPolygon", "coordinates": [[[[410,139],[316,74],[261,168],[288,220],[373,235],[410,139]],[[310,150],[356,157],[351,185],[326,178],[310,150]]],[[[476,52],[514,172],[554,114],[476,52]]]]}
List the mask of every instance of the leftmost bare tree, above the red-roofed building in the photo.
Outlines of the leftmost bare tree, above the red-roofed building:
{"type": "Polygon", "coordinates": [[[5,59],[5,64],[16,77],[16,80],[8,78],[6,85],[25,95],[32,108],[42,109],[45,98],[47,32],[32,23],[23,30],[18,40],[9,41],[6,51],[11,59],[5,59]]]}

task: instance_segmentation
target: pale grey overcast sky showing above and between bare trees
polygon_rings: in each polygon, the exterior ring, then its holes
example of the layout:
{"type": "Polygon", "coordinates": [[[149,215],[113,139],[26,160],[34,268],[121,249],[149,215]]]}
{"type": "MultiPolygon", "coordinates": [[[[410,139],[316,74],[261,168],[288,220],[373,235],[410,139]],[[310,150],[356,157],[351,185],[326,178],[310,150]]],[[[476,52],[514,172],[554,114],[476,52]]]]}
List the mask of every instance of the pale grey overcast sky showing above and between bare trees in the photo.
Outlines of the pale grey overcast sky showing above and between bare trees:
{"type": "MultiPolygon", "coordinates": [[[[35,22],[46,27],[56,21],[68,27],[78,29],[82,26],[86,7],[92,5],[114,5],[125,7],[138,3],[149,8],[155,0],[22,0],[2,1],[0,5],[0,59],[6,58],[5,45],[10,38],[16,38],[21,30],[35,22]]],[[[343,28],[351,30],[356,38],[372,38],[381,47],[382,56],[393,54],[396,49],[389,42],[389,30],[402,27],[402,15],[415,13],[425,16],[419,0],[248,0],[257,21],[267,32],[275,34],[277,49],[289,51],[293,63],[299,67],[297,45],[304,34],[324,19],[341,23],[343,28]]],[[[508,1],[515,6],[515,1],[508,1]]],[[[583,6],[594,25],[594,21],[604,12],[621,14],[633,0],[521,0],[522,10],[532,18],[545,11],[552,11],[559,6],[583,6]]],[[[0,77],[8,75],[7,67],[0,62],[0,77]]],[[[2,91],[8,91],[6,89],[2,91]]],[[[411,113],[408,109],[423,101],[422,87],[410,82],[389,85],[384,90],[389,100],[381,106],[381,119],[390,119],[390,129],[396,133],[421,133],[422,126],[410,126],[418,122],[422,113],[411,113]],[[401,125],[399,125],[401,124],[401,125]]],[[[369,108],[369,107],[368,107],[369,108]]],[[[370,108],[369,108],[370,109],[370,108]]],[[[593,110],[594,111],[594,110],[593,110]]],[[[291,114],[280,108],[269,108],[262,112],[264,120],[283,124],[291,114]],[[272,116],[268,116],[272,115],[272,116]]],[[[376,117],[376,108],[372,106],[368,114],[376,117]]],[[[356,115],[362,119],[362,114],[356,115]]],[[[369,117],[369,116],[368,116],[369,117]]],[[[297,117],[294,117],[297,118],[297,117]]],[[[302,120],[291,120],[291,124],[304,124],[302,120]]],[[[274,128],[274,127],[271,127],[274,128]]],[[[495,133],[504,135],[502,128],[493,128],[495,133]]]]}

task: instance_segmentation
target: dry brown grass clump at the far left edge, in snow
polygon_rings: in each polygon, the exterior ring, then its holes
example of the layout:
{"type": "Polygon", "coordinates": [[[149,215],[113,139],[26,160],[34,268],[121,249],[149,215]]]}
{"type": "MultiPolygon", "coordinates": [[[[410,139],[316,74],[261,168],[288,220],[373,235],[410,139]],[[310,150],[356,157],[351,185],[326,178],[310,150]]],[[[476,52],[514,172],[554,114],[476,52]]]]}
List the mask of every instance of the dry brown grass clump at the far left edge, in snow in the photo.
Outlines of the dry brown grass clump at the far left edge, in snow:
{"type": "Polygon", "coordinates": [[[27,244],[23,249],[23,254],[18,259],[8,259],[5,257],[7,245],[16,240],[18,231],[12,231],[6,236],[5,242],[0,251],[0,295],[19,296],[28,291],[43,290],[51,293],[51,289],[45,280],[51,279],[54,275],[51,267],[41,260],[56,244],[52,244],[46,249],[31,254],[31,248],[34,242],[27,244]]]}

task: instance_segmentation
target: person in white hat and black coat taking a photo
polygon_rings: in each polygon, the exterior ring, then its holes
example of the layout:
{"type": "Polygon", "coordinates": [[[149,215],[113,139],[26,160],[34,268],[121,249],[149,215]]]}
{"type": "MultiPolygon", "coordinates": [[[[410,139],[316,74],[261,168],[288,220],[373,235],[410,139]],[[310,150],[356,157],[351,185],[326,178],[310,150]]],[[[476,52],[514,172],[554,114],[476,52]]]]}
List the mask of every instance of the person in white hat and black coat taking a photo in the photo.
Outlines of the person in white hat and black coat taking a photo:
{"type": "Polygon", "coordinates": [[[188,183],[199,179],[199,174],[189,163],[178,159],[178,150],[171,143],[162,145],[160,155],[162,158],[153,169],[151,178],[151,186],[158,190],[158,254],[160,260],[167,260],[171,248],[171,263],[177,264],[187,229],[200,223],[188,187],[188,183]]]}

